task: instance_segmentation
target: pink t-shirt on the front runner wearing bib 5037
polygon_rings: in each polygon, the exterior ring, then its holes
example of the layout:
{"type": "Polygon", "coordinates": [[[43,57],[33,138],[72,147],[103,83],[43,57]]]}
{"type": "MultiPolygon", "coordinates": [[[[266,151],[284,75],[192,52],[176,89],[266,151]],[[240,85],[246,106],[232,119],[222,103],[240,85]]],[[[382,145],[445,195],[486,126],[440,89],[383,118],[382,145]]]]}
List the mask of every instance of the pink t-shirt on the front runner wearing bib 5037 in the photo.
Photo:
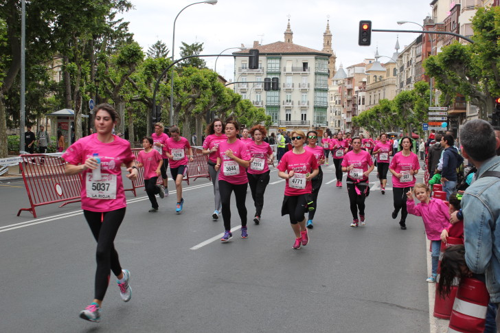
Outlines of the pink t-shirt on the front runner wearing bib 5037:
{"type": "Polygon", "coordinates": [[[102,181],[93,182],[90,169],[82,172],[82,209],[102,212],[126,207],[122,163],[135,159],[130,142],[113,135],[113,142],[102,143],[98,140],[98,134],[94,133],[69,146],[62,158],[69,164],[78,165],[84,164],[95,153],[99,154],[101,160],[102,181]]]}

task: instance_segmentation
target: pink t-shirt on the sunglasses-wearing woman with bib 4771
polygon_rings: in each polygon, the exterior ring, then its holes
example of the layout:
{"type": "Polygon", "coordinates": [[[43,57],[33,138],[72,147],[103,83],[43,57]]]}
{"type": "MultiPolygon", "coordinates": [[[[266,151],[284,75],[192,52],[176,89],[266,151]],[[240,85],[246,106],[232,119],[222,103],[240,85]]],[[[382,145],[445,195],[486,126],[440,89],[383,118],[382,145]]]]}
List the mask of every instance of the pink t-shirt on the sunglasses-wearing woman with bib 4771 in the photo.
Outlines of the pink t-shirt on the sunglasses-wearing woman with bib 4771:
{"type": "Polygon", "coordinates": [[[302,154],[294,154],[293,150],[285,152],[277,165],[277,170],[282,172],[295,172],[291,179],[286,179],[285,195],[299,196],[312,192],[312,184],[306,181],[306,174],[316,170],[318,162],[312,152],[304,151],[302,154]]]}

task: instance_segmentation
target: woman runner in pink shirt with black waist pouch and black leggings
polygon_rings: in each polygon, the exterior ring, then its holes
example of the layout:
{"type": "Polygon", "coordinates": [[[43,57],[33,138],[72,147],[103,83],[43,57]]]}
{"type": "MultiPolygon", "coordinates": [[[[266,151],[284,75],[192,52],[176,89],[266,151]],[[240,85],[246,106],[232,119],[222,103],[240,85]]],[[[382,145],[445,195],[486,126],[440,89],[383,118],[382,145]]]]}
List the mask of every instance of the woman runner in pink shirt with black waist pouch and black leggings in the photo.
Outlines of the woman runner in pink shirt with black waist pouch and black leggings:
{"type": "Polygon", "coordinates": [[[365,198],[370,191],[368,175],[374,170],[373,160],[367,151],[361,150],[361,138],[352,139],[352,150],[345,154],[342,161],[342,171],[348,172],[349,202],[352,213],[351,227],[358,227],[366,224],[365,220],[365,198]],[[358,219],[359,210],[359,219],[358,219]]]}

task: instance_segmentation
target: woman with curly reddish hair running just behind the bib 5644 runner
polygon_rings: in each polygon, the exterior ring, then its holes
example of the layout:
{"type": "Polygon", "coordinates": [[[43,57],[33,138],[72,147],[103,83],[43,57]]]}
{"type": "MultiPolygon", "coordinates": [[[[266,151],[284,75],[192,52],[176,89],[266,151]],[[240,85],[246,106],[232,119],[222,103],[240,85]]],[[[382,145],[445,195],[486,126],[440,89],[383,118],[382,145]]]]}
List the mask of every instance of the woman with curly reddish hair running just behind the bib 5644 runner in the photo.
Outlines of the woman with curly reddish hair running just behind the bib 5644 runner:
{"type": "Polygon", "coordinates": [[[269,184],[269,165],[273,162],[273,150],[269,143],[262,141],[266,137],[266,128],[262,125],[255,125],[250,130],[253,141],[247,145],[250,152],[250,167],[247,169],[248,183],[252,193],[253,204],[255,205],[255,215],[253,222],[260,223],[262,217],[262,207],[264,206],[264,192],[269,184]]]}

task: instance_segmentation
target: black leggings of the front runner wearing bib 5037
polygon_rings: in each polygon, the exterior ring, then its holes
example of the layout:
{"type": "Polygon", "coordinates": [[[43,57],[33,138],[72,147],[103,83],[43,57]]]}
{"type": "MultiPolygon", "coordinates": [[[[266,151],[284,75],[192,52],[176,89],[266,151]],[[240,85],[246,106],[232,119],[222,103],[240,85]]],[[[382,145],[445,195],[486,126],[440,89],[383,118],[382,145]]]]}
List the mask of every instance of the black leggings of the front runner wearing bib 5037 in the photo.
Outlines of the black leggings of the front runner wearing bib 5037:
{"type": "Polygon", "coordinates": [[[104,213],[84,210],[83,214],[98,242],[98,248],[95,252],[98,268],[95,271],[94,298],[102,301],[108,288],[110,270],[116,276],[122,273],[122,266],[120,266],[118,253],[113,242],[125,216],[125,207],[104,213]]]}

